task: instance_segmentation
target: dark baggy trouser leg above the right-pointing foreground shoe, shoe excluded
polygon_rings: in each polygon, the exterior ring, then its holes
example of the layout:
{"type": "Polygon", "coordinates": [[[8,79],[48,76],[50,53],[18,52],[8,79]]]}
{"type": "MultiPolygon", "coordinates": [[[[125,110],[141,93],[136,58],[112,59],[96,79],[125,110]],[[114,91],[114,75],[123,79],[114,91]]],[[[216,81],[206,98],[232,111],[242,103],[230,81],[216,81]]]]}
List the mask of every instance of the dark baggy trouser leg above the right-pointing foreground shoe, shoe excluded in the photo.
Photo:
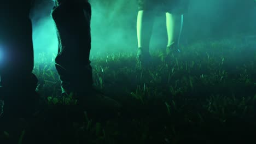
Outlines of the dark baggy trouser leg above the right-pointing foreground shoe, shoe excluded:
{"type": "Polygon", "coordinates": [[[91,6],[86,1],[65,1],[53,10],[59,36],[56,69],[67,92],[83,92],[92,87],[89,61],[91,50],[91,6]]]}

